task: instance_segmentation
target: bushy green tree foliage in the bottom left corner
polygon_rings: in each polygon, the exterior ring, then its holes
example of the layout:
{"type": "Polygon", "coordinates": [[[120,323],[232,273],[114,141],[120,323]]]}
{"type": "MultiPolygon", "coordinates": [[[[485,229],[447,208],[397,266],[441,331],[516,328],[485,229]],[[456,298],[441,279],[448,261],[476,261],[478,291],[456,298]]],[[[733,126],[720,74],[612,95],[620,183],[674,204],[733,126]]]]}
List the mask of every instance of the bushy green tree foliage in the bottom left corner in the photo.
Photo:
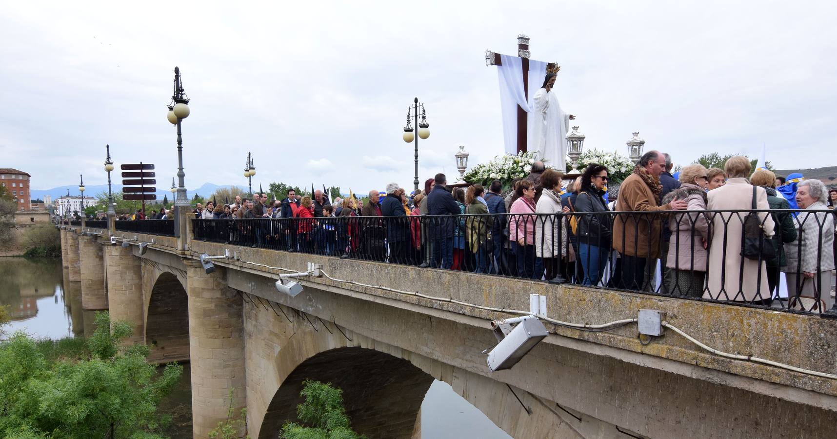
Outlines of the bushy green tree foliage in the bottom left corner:
{"type": "Polygon", "coordinates": [[[143,345],[120,347],[128,323],[110,328],[97,312],[90,356],[50,362],[38,343],[14,333],[0,345],[0,431],[8,437],[158,438],[166,416],[157,403],[177,384],[182,366],[158,376],[143,345]]]}

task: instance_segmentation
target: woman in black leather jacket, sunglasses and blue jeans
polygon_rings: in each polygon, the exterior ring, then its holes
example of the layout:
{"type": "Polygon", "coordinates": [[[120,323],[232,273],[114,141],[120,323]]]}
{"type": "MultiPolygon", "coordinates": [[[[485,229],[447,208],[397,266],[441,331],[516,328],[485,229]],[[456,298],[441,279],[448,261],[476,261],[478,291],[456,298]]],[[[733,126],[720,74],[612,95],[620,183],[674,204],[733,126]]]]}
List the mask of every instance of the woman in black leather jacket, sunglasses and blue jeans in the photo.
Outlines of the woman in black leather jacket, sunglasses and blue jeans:
{"type": "Polygon", "coordinates": [[[576,197],[578,212],[578,261],[584,268],[583,285],[598,285],[610,253],[611,218],[604,201],[608,168],[591,163],[581,176],[576,197]],[[589,212],[583,214],[583,212],[589,212]],[[600,212],[593,214],[595,212],[600,212]]]}

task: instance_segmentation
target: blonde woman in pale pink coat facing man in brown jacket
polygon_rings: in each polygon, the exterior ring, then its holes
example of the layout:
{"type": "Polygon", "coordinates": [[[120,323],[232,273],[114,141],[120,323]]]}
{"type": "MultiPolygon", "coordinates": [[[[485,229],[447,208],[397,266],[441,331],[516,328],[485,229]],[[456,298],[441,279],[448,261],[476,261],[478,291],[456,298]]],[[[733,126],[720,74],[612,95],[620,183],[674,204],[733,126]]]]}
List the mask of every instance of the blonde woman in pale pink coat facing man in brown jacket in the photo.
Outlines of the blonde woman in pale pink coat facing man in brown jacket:
{"type": "Polygon", "coordinates": [[[669,216],[669,256],[663,261],[673,272],[665,278],[665,289],[675,296],[701,297],[706,285],[706,247],[709,243],[709,220],[706,210],[706,186],[709,177],[703,165],[693,163],[680,169],[680,189],[665,195],[686,201],[684,214],[669,216]]]}

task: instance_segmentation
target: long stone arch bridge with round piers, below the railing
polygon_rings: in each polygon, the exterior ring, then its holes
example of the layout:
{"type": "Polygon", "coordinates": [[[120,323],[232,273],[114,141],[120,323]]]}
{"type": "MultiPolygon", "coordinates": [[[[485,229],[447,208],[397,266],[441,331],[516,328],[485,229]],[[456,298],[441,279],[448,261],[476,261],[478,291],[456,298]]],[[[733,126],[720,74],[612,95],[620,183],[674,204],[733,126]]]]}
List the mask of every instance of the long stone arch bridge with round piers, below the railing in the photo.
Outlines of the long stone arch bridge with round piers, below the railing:
{"type": "Polygon", "coordinates": [[[85,310],[132,323],[131,343],[149,345],[157,362],[190,362],[195,437],[226,418],[231,389],[232,404],[247,407],[246,432],[277,436],[295,420],[306,379],[341,387],[352,426],[370,438],[420,437],[434,379],[516,438],[835,436],[833,378],[723,358],[669,329],[640,339],[633,323],[603,332],[545,323],[547,338],[520,363],[491,372],[482,354],[496,343],[490,321],[512,314],[404,292],[523,310],[538,293],[548,317],[572,323],[650,308],[712,348],[825,374],[837,374],[834,318],[236,247],[194,240],[189,224],[179,230],[120,232],[110,220],[109,229],[65,227],[61,240],[85,310]],[[141,254],[136,244],[152,240],[141,254]],[[225,251],[235,257],[207,274],[199,256],[225,251]],[[295,297],[277,292],[281,273],[309,262],[328,276],[301,279],[295,297]]]}

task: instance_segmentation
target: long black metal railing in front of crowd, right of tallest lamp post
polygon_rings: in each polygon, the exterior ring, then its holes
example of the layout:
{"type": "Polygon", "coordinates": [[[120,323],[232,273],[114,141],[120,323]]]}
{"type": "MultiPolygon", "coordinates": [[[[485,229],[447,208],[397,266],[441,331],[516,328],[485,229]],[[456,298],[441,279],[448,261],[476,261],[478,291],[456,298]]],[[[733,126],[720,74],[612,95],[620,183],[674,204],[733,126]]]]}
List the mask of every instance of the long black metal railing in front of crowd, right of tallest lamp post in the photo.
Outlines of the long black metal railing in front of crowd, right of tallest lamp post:
{"type": "Polygon", "coordinates": [[[231,245],[784,310],[824,312],[833,303],[830,210],[196,219],[193,235],[231,245]],[[741,256],[749,214],[765,230],[751,242],[754,259],[741,256]]]}

